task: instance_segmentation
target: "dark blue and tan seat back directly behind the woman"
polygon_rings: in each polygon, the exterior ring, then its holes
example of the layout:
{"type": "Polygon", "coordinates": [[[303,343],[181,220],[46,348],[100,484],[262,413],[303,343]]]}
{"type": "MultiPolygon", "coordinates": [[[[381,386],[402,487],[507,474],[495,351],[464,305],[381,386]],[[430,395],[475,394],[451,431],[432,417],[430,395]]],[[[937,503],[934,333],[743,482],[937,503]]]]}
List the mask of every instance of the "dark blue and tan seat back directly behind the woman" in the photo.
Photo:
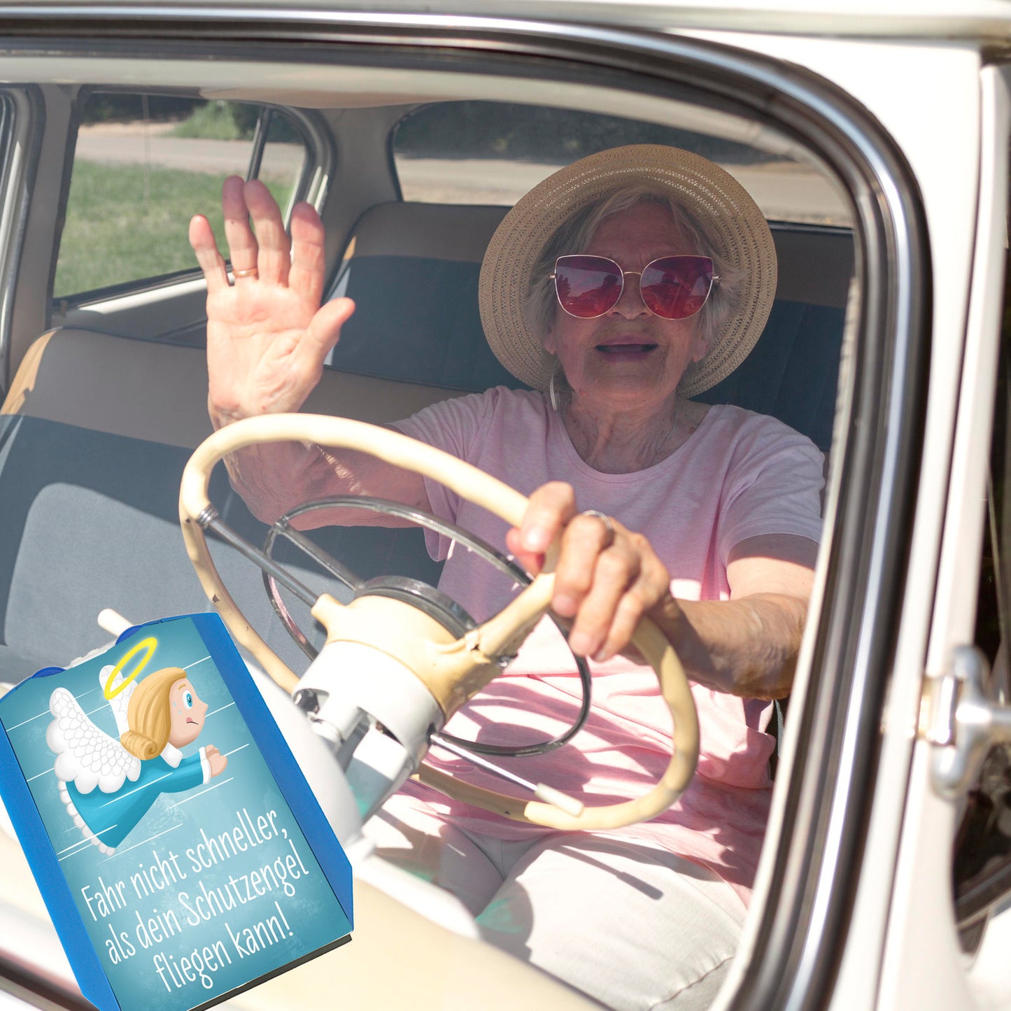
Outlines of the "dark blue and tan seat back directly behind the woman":
{"type": "MultiPolygon", "coordinates": [[[[385,203],[358,222],[335,294],[357,309],[334,351],[335,369],[362,376],[482,390],[522,383],[484,340],[477,279],[504,207],[385,203]]],[[[747,361],[703,394],[772,415],[831,442],[843,316],[852,270],[845,229],[773,224],[779,285],[747,361]]]]}

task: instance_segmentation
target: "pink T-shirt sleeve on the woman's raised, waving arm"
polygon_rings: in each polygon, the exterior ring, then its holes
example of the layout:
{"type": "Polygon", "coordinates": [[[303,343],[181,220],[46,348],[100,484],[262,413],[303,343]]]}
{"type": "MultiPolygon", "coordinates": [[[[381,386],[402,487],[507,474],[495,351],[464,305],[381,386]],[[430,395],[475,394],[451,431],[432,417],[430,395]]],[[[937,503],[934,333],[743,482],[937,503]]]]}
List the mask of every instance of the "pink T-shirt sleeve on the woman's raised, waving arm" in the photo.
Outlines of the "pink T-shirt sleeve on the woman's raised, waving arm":
{"type": "MultiPolygon", "coordinates": [[[[394,422],[393,427],[411,439],[435,446],[461,460],[470,461],[480,433],[495,409],[496,401],[497,391],[494,389],[451,397],[423,407],[410,418],[394,422]]],[[[455,523],[460,509],[460,496],[430,477],[425,478],[425,490],[432,512],[442,520],[455,523]]],[[[449,551],[447,538],[427,530],[425,543],[429,554],[436,561],[446,558],[449,551]]]]}

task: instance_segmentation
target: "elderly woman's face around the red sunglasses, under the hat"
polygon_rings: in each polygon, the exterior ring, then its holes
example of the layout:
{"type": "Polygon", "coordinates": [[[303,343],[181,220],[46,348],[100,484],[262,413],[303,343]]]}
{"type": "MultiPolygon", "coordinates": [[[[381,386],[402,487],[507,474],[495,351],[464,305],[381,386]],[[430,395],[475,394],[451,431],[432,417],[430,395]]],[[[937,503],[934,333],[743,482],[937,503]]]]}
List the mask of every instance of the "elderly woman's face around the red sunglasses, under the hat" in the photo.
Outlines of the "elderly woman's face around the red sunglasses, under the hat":
{"type": "MultiPolygon", "coordinates": [[[[638,203],[600,223],[588,247],[623,270],[641,271],[661,256],[699,253],[677,233],[670,212],[638,203]]],[[[590,409],[660,409],[684,370],[708,350],[700,318],[663,319],[639,295],[639,277],[627,276],[621,298],[595,319],[555,310],[544,347],[557,356],[579,406],[590,409]]]]}

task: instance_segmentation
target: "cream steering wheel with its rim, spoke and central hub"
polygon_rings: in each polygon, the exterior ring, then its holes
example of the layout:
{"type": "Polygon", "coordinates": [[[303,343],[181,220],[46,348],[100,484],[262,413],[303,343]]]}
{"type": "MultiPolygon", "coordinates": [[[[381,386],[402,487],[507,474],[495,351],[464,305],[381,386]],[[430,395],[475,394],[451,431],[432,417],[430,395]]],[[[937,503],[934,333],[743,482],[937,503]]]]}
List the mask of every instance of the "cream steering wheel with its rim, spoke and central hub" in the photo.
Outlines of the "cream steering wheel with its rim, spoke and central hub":
{"type": "MultiPolygon", "coordinates": [[[[221,582],[204,535],[205,529],[211,528],[226,541],[239,542],[219,521],[207,496],[210,472],[228,454],[269,442],[309,442],[371,454],[440,481],[514,527],[520,525],[527,509],[527,498],[519,491],[471,464],[398,432],[364,422],[321,415],[269,415],[236,422],[211,435],[197,447],[183,471],[179,518],[186,550],[204,591],[233,635],[289,694],[297,690],[298,678],[246,621],[221,582]]],[[[323,593],[311,614],[326,629],[328,643],[357,643],[385,653],[409,669],[448,720],[499,672],[499,658],[512,656],[548,610],[557,554],[556,542],[548,551],[544,572],[497,615],[458,638],[445,624],[402,599],[364,595],[343,605],[323,593]]],[[[276,564],[274,574],[284,577],[276,564]]],[[[566,831],[619,828],[665,811],[683,793],[695,772],[699,721],[684,670],[659,629],[642,618],[632,642],[656,673],[660,694],[673,720],[670,760],[659,780],[642,797],[587,807],[576,815],[541,801],[518,800],[461,783],[427,765],[422,765],[419,778],[450,797],[505,818],[566,831]]]]}

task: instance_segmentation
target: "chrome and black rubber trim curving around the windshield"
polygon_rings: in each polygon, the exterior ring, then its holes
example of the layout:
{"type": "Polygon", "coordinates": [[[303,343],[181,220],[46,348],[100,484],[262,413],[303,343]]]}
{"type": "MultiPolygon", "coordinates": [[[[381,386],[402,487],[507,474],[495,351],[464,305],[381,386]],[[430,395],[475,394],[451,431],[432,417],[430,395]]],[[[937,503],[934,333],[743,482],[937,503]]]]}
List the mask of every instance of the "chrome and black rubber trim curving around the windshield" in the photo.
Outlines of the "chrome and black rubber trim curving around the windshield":
{"type": "Polygon", "coordinates": [[[814,75],[673,35],[505,18],[182,6],[7,8],[0,26],[6,44],[18,49],[33,35],[66,38],[61,18],[71,17],[90,19],[92,50],[96,36],[135,43],[139,31],[157,27],[167,45],[174,36],[236,52],[256,49],[269,32],[274,40],[316,43],[304,47],[308,59],[326,59],[328,51],[333,58],[336,45],[342,54],[364,47],[363,58],[374,60],[379,47],[388,47],[384,56],[395,52],[413,66],[438,48],[435,59],[452,53],[455,66],[469,61],[478,74],[509,73],[499,55],[519,56],[529,61],[524,71],[549,78],[610,74],[633,91],[705,92],[774,121],[833,166],[862,238],[855,268],[861,299],[849,324],[853,367],[836,426],[829,496],[835,508],[826,520],[831,550],[813,660],[821,675],[791,712],[802,721],[797,765],[806,772],[787,787],[792,838],[780,844],[773,872],[777,902],[757,913],[760,939],[732,1006],[824,1004],[865,841],[920,465],[930,260],[920,197],[901,153],[862,108],[814,75]],[[879,503],[869,531],[867,501],[879,503]]]}

